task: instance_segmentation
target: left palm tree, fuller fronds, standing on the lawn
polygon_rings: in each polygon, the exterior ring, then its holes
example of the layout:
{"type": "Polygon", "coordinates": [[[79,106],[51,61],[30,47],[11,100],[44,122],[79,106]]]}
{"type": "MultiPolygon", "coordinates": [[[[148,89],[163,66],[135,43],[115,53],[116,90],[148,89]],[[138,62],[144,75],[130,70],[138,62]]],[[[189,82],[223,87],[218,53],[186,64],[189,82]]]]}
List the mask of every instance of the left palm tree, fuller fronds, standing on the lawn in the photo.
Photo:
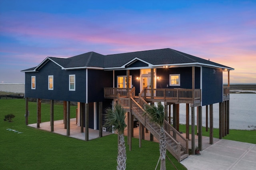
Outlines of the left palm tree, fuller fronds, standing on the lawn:
{"type": "Polygon", "coordinates": [[[117,156],[117,170],[126,169],[126,147],[124,141],[124,128],[126,128],[125,118],[126,110],[120,105],[116,104],[112,108],[106,109],[104,126],[110,127],[114,132],[118,132],[118,156],[117,156]]]}

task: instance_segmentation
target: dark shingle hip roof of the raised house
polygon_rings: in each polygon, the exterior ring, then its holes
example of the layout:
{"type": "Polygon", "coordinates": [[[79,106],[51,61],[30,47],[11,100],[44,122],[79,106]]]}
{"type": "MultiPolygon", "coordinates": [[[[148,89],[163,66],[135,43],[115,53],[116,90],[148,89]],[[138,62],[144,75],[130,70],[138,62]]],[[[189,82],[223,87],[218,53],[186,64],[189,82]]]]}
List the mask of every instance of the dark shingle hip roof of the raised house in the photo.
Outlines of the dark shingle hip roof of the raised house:
{"type": "MultiPolygon", "coordinates": [[[[69,58],[56,58],[48,57],[52,61],[58,63],[64,68],[79,68],[79,67],[99,67],[99,68],[116,68],[126,65],[134,59],[140,59],[152,65],[177,65],[177,64],[201,64],[201,65],[210,65],[221,68],[232,69],[225,65],[214,63],[206,59],[202,59],[193,55],[182,53],[174,49],[155,49],[147,51],[137,51],[130,53],[120,53],[120,54],[111,54],[111,55],[102,55],[95,52],[88,52],[74,57],[69,58]]],[[[47,62],[47,61],[46,61],[47,62]]],[[[42,62],[43,63],[43,62],[42,62]]],[[[42,64],[41,63],[41,64],[42,64]]],[[[33,67],[31,69],[26,69],[23,71],[32,71],[38,69],[38,67],[33,67]]]]}

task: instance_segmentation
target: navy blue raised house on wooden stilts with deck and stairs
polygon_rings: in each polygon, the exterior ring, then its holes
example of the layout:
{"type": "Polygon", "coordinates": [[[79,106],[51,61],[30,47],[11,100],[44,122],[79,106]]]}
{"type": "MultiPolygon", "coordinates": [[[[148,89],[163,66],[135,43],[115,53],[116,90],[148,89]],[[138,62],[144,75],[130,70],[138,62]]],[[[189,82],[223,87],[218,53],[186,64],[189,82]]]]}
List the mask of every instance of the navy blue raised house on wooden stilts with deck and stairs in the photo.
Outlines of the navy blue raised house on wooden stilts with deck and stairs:
{"type": "MultiPolygon", "coordinates": [[[[210,144],[213,144],[213,104],[219,103],[219,138],[229,133],[229,71],[231,67],[174,49],[156,49],[102,55],[88,52],[69,58],[47,57],[25,73],[26,124],[28,99],[50,99],[51,131],[54,131],[54,100],[64,101],[64,126],[70,135],[70,102],[78,102],[78,126],[88,140],[88,128],[102,136],[104,110],[118,102],[127,110],[131,147],[134,119],[159,139],[160,128],[144,115],[145,105],[162,102],[166,110],[164,129],[167,149],[178,161],[188,156],[189,132],[195,148],[195,108],[198,113],[198,147],[202,150],[202,107],[209,107],[210,144]],[[228,71],[228,86],[223,72],[228,71]],[[179,105],[186,103],[186,138],[179,132],[179,105]],[[172,108],[172,109],[171,109],[172,108]],[[171,125],[171,113],[173,125],[171,125]],[[191,117],[191,130],[189,119],[191,117]]],[[[40,107],[38,105],[40,128],[40,107]]],[[[131,149],[131,148],[130,148],[131,149]]],[[[195,154],[192,149],[192,154],[195,154]]]]}

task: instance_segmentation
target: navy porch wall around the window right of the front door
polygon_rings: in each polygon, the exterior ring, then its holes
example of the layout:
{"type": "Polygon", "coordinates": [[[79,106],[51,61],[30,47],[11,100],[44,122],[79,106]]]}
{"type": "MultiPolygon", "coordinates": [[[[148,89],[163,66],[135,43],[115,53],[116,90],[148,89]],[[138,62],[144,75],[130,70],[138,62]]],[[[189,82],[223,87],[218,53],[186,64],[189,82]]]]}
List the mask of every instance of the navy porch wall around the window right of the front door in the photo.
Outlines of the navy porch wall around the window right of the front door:
{"type": "MultiPolygon", "coordinates": [[[[156,75],[160,77],[160,79],[156,80],[157,89],[192,89],[192,67],[156,69],[156,75]],[[170,74],[180,74],[180,86],[169,85],[170,74]]],[[[200,89],[200,67],[195,67],[195,89],[200,89]]]]}

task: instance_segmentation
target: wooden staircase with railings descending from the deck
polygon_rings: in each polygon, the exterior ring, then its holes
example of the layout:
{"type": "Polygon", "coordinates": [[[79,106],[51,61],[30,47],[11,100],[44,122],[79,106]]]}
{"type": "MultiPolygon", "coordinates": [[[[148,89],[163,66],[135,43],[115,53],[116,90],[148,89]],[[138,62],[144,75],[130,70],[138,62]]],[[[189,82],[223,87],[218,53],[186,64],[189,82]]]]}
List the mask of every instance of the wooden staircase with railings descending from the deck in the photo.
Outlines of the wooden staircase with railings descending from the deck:
{"type": "MultiPolygon", "coordinates": [[[[130,97],[118,97],[118,103],[127,111],[131,112],[144,127],[146,127],[154,137],[159,140],[160,126],[154,122],[150,122],[149,116],[145,113],[145,106],[148,103],[138,97],[136,101],[132,94],[130,97]]],[[[164,120],[164,130],[166,133],[166,149],[180,162],[188,157],[188,139],[184,138],[174,127],[164,120]]]]}

